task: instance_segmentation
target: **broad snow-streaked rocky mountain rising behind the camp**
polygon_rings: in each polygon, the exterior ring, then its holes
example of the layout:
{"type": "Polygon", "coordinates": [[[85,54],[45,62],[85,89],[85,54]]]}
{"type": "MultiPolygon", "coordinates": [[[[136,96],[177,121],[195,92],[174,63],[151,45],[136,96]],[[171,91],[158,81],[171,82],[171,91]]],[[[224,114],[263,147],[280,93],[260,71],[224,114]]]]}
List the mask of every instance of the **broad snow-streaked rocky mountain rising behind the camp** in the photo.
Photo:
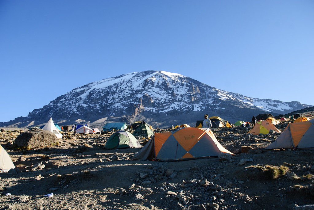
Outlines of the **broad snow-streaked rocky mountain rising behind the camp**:
{"type": "Polygon", "coordinates": [[[123,74],[78,87],[57,97],[27,117],[15,118],[1,126],[26,127],[55,122],[103,123],[145,120],[166,127],[188,123],[195,126],[203,115],[219,116],[234,123],[249,121],[260,113],[289,113],[310,105],[258,99],[210,87],[190,77],[165,71],[123,74]],[[80,120],[78,120],[80,119],[80,120]]]}

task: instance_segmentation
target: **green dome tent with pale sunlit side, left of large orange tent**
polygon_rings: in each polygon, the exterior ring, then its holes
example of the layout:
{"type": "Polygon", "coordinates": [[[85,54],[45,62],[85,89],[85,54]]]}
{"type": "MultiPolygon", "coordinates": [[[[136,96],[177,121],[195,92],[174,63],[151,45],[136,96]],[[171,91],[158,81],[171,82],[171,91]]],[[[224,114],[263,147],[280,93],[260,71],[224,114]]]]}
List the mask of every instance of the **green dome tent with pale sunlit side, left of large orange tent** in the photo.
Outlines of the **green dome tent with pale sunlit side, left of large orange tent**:
{"type": "Polygon", "coordinates": [[[104,149],[122,149],[130,147],[142,147],[138,140],[129,132],[125,130],[118,131],[110,136],[104,149]]]}

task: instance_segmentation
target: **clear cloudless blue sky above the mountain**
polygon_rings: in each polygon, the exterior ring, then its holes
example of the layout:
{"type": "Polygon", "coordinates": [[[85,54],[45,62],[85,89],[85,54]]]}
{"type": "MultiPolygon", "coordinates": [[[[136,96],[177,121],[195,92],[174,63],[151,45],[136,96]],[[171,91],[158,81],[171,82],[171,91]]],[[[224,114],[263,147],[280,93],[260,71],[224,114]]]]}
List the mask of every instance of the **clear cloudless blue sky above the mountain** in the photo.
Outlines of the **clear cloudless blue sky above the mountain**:
{"type": "Polygon", "coordinates": [[[314,1],[0,1],[0,122],[147,70],[314,105],[314,1]]]}

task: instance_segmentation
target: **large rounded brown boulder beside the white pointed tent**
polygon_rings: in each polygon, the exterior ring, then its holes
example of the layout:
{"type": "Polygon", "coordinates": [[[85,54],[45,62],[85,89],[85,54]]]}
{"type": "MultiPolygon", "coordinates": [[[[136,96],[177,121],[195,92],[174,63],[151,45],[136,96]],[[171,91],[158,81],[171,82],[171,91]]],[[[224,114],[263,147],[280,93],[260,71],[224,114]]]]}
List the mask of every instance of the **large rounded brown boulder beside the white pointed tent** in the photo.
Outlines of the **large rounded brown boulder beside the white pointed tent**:
{"type": "Polygon", "coordinates": [[[32,149],[35,147],[44,147],[48,145],[58,144],[57,136],[47,130],[33,129],[24,132],[16,137],[14,144],[19,148],[32,149]]]}

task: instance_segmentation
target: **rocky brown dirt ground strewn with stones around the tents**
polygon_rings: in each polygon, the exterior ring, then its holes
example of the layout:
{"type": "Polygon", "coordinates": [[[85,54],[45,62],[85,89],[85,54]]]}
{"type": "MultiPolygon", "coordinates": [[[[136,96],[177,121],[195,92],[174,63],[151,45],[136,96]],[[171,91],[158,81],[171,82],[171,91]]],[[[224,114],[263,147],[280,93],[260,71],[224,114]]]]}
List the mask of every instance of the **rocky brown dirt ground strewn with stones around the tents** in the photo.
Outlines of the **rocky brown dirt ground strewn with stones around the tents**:
{"type": "MultiPolygon", "coordinates": [[[[283,131],[287,123],[276,127],[283,131]]],[[[304,206],[314,204],[314,152],[264,151],[277,133],[213,129],[235,156],[155,162],[132,160],[138,148],[104,150],[113,132],[65,132],[59,145],[17,150],[12,143],[27,129],[3,129],[0,143],[16,168],[0,173],[0,209],[309,209],[304,206]]],[[[144,145],[149,138],[139,140],[144,145]]]]}

